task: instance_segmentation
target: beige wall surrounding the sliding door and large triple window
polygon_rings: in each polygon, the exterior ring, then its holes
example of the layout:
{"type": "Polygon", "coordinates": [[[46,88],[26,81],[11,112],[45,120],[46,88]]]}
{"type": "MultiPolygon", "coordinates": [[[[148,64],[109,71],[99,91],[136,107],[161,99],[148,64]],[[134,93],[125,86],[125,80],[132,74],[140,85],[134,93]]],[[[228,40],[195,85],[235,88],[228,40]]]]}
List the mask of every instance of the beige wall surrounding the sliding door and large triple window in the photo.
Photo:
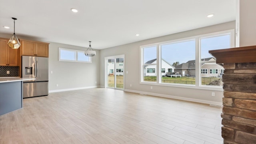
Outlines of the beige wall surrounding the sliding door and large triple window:
{"type": "Polygon", "coordinates": [[[125,70],[126,72],[128,71],[125,75],[124,90],[198,102],[222,104],[223,91],[140,84],[140,46],[230,29],[235,29],[235,21],[100,50],[100,70],[102,71],[100,73],[100,85],[104,86],[104,57],[124,54],[126,58],[125,70]],[[130,84],[132,84],[132,87],[130,87],[130,84]],[[152,86],[153,89],[150,89],[150,86],[152,86]],[[212,92],[215,92],[215,96],[212,96],[212,92]]]}

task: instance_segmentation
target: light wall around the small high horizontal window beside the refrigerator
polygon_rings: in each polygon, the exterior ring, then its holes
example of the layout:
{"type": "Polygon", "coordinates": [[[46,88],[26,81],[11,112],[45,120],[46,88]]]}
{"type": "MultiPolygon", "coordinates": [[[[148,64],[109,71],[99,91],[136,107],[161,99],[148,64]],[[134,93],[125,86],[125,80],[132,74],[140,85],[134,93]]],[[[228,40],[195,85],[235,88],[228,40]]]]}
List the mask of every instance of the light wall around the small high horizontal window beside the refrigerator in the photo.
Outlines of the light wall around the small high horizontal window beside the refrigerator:
{"type": "Polygon", "coordinates": [[[92,57],[92,63],[58,61],[58,48],[85,50],[83,47],[50,42],[49,91],[96,87],[100,83],[100,52],[92,57]],[[50,74],[50,71],[53,73],[50,74]],[[58,84],[58,87],[56,86],[58,84]]]}

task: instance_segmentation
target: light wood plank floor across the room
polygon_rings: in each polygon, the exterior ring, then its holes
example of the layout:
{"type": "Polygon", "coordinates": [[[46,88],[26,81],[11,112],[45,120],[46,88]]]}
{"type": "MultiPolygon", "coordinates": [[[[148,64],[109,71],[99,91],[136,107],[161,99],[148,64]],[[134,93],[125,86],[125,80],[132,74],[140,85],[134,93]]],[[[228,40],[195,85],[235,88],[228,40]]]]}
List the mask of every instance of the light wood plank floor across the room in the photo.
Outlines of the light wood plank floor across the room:
{"type": "Polygon", "coordinates": [[[222,144],[221,108],[92,88],[26,98],[0,144],[222,144]]]}

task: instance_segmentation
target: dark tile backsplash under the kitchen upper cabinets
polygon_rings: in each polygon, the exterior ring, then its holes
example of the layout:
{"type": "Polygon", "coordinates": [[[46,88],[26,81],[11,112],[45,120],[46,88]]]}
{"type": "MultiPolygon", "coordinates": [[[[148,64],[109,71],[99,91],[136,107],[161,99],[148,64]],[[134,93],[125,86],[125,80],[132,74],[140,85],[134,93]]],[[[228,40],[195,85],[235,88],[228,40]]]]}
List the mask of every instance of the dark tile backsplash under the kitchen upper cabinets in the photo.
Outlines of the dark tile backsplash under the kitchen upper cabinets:
{"type": "Polygon", "coordinates": [[[18,66],[0,66],[0,77],[18,77],[19,67],[18,66]],[[7,74],[10,71],[10,74],[7,74]]]}

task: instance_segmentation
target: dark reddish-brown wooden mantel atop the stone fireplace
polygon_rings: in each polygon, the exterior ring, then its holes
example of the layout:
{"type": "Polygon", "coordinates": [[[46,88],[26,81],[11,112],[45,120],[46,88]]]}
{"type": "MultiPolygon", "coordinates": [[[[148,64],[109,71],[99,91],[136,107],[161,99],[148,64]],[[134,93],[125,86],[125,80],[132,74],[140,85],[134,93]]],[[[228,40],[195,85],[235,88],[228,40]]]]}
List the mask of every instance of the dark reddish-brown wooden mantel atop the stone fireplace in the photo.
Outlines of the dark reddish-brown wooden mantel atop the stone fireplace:
{"type": "Polygon", "coordinates": [[[216,58],[216,63],[245,63],[256,62],[256,46],[209,50],[216,58]]]}

